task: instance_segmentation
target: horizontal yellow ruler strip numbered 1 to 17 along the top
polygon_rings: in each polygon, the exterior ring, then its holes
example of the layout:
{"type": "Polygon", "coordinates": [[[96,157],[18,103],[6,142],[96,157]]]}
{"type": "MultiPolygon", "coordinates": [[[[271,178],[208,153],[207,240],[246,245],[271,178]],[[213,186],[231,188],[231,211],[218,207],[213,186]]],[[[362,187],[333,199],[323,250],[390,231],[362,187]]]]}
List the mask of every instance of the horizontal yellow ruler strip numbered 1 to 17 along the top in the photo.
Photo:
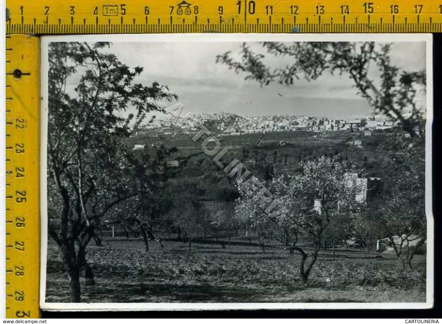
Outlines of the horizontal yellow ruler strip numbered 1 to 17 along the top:
{"type": "Polygon", "coordinates": [[[7,8],[11,34],[442,31],[442,0],[12,0],[7,8]]]}

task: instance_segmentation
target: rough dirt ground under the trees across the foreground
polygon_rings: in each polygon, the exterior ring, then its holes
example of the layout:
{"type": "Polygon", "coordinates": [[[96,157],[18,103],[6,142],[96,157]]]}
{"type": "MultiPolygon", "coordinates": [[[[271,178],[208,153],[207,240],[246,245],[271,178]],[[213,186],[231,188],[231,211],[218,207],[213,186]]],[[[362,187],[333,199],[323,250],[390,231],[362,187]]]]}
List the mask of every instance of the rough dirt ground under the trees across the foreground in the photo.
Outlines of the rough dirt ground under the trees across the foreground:
{"type": "MultiPolygon", "coordinates": [[[[225,243],[227,243],[225,241],[225,243]]],[[[87,258],[94,286],[83,302],[425,302],[425,257],[415,256],[413,271],[400,271],[389,253],[359,249],[321,252],[308,286],[300,286],[298,254],[278,242],[263,253],[256,241],[233,237],[230,248],[214,239],[195,242],[191,255],[180,241],[164,249],[150,241],[114,238],[90,245],[87,258]],[[379,256],[382,256],[381,258],[379,256]]],[[[50,241],[46,301],[69,302],[68,278],[57,246],[50,241]]]]}

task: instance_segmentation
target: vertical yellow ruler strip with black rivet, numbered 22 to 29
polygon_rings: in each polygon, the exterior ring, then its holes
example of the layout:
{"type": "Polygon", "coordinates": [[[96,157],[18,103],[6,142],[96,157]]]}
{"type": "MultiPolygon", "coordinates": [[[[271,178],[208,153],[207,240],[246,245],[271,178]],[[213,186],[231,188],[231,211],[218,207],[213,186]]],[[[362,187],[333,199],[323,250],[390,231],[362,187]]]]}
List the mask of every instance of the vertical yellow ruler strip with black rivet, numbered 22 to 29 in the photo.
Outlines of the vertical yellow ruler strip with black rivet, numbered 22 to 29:
{"type": "Polygon", "coordinates": [[[6,316],[39,316],[39,38],[6,38],[6,316]]]}

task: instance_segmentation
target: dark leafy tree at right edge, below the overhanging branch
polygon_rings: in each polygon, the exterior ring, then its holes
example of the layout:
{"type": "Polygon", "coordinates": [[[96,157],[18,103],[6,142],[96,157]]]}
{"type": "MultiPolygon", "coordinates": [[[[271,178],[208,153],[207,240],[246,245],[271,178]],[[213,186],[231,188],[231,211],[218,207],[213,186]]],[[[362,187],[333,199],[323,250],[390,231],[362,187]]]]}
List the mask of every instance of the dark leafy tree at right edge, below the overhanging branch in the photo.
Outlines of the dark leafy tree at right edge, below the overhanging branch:
{"type": "Polygon", "coordinates": [[[391,147],[380,147],[385,186],[373,203],[380,234],[387,238],[398,260],[411,269],[412,259],[427,240],[425,213],[425,146],[399,137],[391,147]]]}

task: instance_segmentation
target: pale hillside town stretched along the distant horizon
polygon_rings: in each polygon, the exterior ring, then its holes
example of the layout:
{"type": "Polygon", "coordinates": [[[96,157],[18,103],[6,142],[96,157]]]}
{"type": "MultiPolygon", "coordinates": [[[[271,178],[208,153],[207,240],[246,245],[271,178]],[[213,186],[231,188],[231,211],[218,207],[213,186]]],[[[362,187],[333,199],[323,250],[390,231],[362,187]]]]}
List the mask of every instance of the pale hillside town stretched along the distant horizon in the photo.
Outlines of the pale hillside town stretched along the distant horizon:
{"type": "MultiPolygon", "coordinates": [[[[405,118],[412,112],[404,114],[405,118]]],[[[156,119],[146,125],[146,129],[172,127],[179,124],[182,129],[197,130],[198,125],[204,125],[210,130],[222,132],[226,135],[247,133],[282,132],[282,131],[312,131],[329,132],[343,130],[378,130],[396,126],[397,121],[386,115],[370,115],[349,119],[329,119],[315,116],[238,116],[232,113],[188,113],[184,117],[168,117],[156,119]]]]}

